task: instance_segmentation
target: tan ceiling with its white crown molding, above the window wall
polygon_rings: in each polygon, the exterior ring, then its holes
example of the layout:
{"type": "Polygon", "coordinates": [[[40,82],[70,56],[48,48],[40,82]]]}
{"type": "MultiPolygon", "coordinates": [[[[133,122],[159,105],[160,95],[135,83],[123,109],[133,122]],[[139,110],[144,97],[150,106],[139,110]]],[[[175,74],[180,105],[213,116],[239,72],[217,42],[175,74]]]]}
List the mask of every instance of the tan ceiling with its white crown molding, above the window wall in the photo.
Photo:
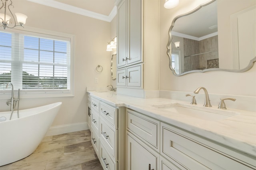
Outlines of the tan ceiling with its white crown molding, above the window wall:
{"type": "Polygon", "coordinates": [[[60,10],[111,22],[116,16],[116,0],[28,0],[60,10]]]}

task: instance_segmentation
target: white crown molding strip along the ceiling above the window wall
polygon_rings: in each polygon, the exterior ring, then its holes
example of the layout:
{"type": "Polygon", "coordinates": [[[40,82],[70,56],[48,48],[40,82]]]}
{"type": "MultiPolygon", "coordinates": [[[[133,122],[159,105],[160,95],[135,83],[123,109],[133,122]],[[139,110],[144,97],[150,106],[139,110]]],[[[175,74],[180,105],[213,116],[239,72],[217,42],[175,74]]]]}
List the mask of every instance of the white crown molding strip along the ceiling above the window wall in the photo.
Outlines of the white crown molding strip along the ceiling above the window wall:
{"type": "Polygon", "coordinates": [[[27,1],[35,2],[35,3],[38,3],[38,4],[45,5],[45,6],[50,6],[50,7],[53,7],[53,8],[60,9],[60,10],[65,10],[65,11],[68,11],[68,12],[73,12],[73,13],[76,13],[76,14],[80,14],[80,15],[83,15],[83,16],[88,16],[88,17],[95,18],[95,19],[98,19],[98,20],[103,20],[103,21],[106,21],[106,22],[111,22],[112,19],[114,18],[114,16],[116,16],[116,12],[117,12],[116,6],[114,6],[114,8],[110,12],[110,14],[108,16],[106,16],[106,15],[103,15],[103,14],[99,14],[99,13],[96,13],[96,12],[92,12],[92,11],[89,11],[89,10],[78,8],[76,6],[64,4],[64,3],[61,3],[61,2],[58,2],[58,1],[55,1],[55,0],[27,0],[27,1]]]}

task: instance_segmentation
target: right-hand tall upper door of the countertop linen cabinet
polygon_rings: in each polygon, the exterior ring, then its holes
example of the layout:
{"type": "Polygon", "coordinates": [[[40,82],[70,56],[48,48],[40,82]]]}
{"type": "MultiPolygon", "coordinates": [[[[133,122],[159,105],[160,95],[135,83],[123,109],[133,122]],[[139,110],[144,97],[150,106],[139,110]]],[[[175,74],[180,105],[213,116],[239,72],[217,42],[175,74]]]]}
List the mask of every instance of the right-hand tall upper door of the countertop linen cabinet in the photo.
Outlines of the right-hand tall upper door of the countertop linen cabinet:
{"type": "Polygon", "coordinates": [[[143,0],[128,0],[127,65],[142,61],[142,2],[143,0]]]}

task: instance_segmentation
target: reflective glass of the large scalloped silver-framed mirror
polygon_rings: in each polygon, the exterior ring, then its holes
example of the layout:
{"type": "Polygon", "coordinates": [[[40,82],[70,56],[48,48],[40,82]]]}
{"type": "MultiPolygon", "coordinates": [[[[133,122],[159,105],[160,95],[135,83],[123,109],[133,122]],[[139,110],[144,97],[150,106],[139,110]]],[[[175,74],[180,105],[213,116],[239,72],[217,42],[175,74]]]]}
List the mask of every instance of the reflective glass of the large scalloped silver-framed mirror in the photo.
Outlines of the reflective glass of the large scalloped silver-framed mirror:
{"type": "Polygon", "coordinates": [[[174,18],[167,44],[174,75],[217,70],[243,72],[252,67],[256,61],[255,1],[244,0],[242,7],[232,1],[232,8],[230,2],[212,0],[174,18]],[[229,28],[223,26],[226,18],[229,28]],[[230,32],[232,36],[228,37],[230,32]]]}

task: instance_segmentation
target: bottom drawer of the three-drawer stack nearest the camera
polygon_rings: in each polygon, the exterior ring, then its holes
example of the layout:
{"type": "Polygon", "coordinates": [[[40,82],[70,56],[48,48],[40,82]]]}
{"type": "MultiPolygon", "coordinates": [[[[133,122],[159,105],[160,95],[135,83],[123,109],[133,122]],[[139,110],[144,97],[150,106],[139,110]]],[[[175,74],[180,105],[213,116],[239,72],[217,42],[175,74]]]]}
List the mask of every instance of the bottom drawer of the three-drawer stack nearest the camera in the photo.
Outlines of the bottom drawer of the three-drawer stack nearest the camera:
{"type": "Polygon", "coordinates": [[[102,144],[100,144],[100,155],[99,160],[104,170],[117,170],[118,162],[114,162],[110,158],[106,148],[102,144]]]}

